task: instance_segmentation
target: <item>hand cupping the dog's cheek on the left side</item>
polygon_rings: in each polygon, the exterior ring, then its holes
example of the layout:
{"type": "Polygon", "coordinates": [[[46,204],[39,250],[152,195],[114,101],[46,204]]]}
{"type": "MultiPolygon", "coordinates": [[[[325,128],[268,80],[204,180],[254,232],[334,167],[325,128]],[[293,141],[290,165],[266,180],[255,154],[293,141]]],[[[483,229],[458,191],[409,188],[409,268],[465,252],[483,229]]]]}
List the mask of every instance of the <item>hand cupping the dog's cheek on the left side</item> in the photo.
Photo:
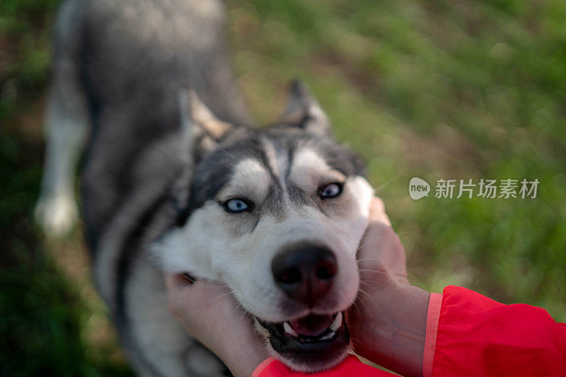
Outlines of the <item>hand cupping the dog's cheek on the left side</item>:
{"type": "Polygon", "coordinates": [[[234,376],[251,376],[267,359],[253,319],[226,286],[182,274],[166,275],[169,310],[187,332],[220,357],[234,376]]]}

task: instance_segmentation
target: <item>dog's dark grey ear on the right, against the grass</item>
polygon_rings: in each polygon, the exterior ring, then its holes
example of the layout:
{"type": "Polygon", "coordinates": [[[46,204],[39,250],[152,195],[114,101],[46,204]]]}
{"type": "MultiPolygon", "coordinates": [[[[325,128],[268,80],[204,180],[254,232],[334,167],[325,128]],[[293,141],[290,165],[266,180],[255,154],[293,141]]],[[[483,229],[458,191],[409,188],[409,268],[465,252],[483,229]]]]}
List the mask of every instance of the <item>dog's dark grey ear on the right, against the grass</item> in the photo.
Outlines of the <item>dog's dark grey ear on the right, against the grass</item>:
{"type": "Polygon", "coordinates": [[[280,122],[296,124],[307,132],[321,136],[330,132],[328,117],[307,86],[299,80],[289,85],[289,102],[280,122]]]}

